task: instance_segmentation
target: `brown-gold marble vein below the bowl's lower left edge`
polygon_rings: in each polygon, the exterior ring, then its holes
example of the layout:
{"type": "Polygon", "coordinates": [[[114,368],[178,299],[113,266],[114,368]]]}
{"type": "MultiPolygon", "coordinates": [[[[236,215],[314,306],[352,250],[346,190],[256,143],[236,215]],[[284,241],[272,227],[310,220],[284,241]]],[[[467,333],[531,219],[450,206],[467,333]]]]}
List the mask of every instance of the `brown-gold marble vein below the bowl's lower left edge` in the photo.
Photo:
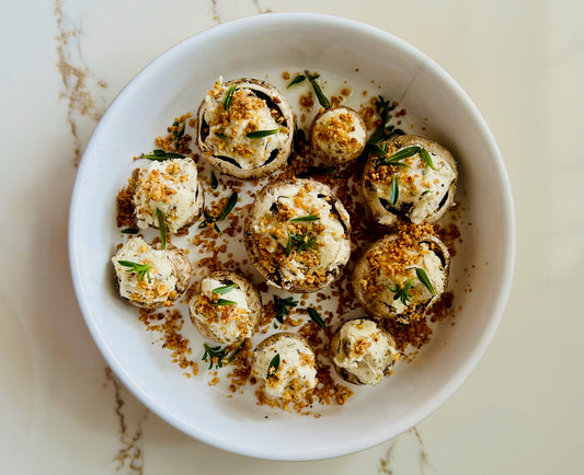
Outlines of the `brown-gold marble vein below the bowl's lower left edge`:
{"type": "Polygon", "coordinates": [[[144,475],[144,442],[142,442],[142,425],[148,418],[149,410],[141,408],[141,416],[135,422],[136,428],[134,433],[128,430],[127,415],[124,406],[127,407],[123,397],[123,387],[114,376],[110,368],[105,368],[105,379],[112,383],[115,396],[115,415],[117,418],[117,432],[119,435],[119,442],[122,448],[117,451],[114,461],[117,463],[116,472],[126,468],[127,473],[133,475],[144,475]]]}

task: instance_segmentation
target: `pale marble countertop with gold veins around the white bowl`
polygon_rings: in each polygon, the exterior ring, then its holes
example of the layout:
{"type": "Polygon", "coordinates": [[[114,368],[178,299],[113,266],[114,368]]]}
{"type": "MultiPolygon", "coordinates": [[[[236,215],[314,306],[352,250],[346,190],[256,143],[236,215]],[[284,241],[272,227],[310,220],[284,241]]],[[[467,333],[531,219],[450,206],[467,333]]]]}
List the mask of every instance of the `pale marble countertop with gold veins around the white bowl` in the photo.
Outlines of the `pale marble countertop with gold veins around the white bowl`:
{"type": "Polygon", "coordinates": [[[583,3],[31,0],[2,10],[1,473],[584,473],[583,3]],[[509,302],[472,375],[400,437],[319,462],[224,452],[151,414],[102,359],[68,265],[76,165],[117,92],[190,35],[280,11],[378,26],[443,66],[499,142],[517,216],[509,302]]]}

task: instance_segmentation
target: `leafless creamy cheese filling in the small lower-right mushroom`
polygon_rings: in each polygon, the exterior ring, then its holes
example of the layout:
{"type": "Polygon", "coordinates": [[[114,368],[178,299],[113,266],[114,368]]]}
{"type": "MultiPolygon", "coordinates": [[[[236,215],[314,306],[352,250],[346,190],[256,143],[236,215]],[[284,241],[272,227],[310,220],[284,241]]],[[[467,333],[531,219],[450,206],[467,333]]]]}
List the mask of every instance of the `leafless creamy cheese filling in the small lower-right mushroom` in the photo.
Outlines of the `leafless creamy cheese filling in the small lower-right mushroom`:
{"type": "Polygon", "coordinates": [[[369,320],[352,320],[339,331],[333,361],[364,384],[377,384],[393,361],[400,358],[391,335],[369,320]]]}

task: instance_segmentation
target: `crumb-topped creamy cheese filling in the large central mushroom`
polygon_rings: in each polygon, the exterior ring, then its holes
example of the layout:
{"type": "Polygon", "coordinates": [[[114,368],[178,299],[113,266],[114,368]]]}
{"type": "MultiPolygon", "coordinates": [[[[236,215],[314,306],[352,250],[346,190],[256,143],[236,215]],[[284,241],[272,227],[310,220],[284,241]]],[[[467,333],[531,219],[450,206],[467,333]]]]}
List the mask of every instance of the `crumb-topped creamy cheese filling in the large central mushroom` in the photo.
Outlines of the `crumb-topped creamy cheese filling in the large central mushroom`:
{"type": "Polygon", "coordinates": [[[286,248],[290,240],[290,254],[279,268],[285,280],[302,280],[307,271],[327,270],[340,260],[347,236],[332,205],[319,197],[317,190],[285,185],[278,188],[277,196],[270,195],[261,204],[257,215],[262,218],[253,225],[253,231],[268,238],[262,240],[266,243],[266,253],[286,248]],[[274,211],[274,205],[277,211],[274,211]],[[282,219],[278,213],[285,213],[287,219],[282,219]],[[306,217],[318,219],[295,221],[306,217]],[[290,235],[302,236],[306,245],[290,235]]]}

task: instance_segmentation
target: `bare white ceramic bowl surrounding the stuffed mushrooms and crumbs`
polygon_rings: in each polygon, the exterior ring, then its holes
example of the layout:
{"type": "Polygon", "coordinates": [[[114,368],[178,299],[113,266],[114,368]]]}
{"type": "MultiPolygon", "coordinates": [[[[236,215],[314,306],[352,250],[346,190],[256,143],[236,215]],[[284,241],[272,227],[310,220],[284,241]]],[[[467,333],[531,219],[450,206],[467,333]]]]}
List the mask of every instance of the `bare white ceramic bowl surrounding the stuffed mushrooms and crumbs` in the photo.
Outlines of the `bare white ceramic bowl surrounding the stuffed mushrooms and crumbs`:
{"type": "MultiPolygon", "coordinates": [[[[499,325],[512,282],[515,229],[511,187],[489,127],[468,95],[439,66],[383,31],[316,14],[268,14],[224,24],[171,48],[119,93],[89,143],[72,196],[70,260],[87,324],[110,367],[160,417],[213,445],[274,460],[324,459],[373,447],[411,428],[444,403],[472,371],[499,325]],[[388,381],[358,389],[323,417],[264,418],[253,398],[227,398],[186,379],[154,348],[136,309],[113,291],[110,258],[117,190],[172,117],[195,109],[219,74],[275,78],[318,70],[351,81],[376,78],[424,135],[457,158],[457,200],[465,208],[456,256],[456,325],[436,332],[410,364],[388,381]],[[358,68],[358,72],[356,72],[358,68]],[[465,273],[462,268],[468,270],[465,273]],[[458,268],[458,269],[457,269],[458,268]],[[466,292],[466,287],[472,292],[466,292]],[[447,345],[445,345],[447,343],[447,345]]],[[[204,366],[202,367],[204,368],[204,366]]],[[[273,410],[271,412],[273,414],[273,410]]]]}

